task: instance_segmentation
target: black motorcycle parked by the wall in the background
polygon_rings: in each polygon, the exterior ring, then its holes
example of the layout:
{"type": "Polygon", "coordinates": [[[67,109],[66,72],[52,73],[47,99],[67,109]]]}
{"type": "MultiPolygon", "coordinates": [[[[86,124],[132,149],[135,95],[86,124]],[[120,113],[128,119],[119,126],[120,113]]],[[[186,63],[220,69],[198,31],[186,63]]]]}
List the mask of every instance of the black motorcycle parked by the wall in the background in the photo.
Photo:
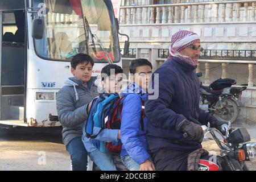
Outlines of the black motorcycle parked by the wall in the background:
{"type": "MultiPolygon", "coordinates": [[[[197,73],[200,77],[202,74],[197,73]]],[[[229,78],[227,78],[229,79],[229,78]]],[[[230,79],[232,80],[232,79],[230,79]]],[[[216,81],[215,81],[216,82],[216,81]]],[[[236,83],[236,82],[234,82],[236,83]]],[[[240,106],[242,106],[241,95],[247,87],[222,86],[214,90],[211,86],[200,85],[199,107],[214,115],[220,121],[233,123],[238,118],[240,106]]]]}

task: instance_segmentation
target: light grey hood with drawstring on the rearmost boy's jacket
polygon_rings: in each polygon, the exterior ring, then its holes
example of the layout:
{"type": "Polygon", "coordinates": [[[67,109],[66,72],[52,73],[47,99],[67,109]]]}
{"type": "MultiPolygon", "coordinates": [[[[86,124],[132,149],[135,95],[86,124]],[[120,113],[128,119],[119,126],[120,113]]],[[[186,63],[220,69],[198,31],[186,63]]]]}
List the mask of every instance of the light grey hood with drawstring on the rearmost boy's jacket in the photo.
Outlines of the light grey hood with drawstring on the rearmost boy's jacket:
{"type": "MultiPolygon", "coordinates": [[[[92,86],[93,86],[93,84],[94,84],[96,78],[97,78],[96,76],[92,76],[92,77],[90,78],[90,80],[86,83],[86,84],[87,84],[87,88],[88,88],[89,90],[92,88],[92,86]]],[[[82,88],[82,87],[86,88],[86,87],[84,86],[84,83],[82,82],[82,80],[79,79],[79,78],[75,78],[75,77],[71,77],[71,78],[68,78],[67,80],[65,80],[64,86],[73,86],[73,87],[74,87],[75,94],[76,94],[76,100],[77,100],[77,101],[79,100],[79,95],[78,95],[78,93],[77,93],[77,91],[76,91],[76,86],[79,86],[79,87],[81,87],[81,88],[82,88]]]]}

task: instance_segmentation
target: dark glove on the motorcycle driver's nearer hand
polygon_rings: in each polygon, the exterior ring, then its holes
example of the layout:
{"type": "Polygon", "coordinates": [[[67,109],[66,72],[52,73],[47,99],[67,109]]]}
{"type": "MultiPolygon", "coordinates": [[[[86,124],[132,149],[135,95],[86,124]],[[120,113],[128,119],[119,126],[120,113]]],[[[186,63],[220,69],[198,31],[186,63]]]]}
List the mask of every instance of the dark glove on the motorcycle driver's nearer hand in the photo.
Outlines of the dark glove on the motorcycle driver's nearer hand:
{"type": "Polygon", "coordinates": [[[195,140],[199,143],[203,141],[204,138],[204,131],[200,125],[188,121],[185,119],[176,127],[176,130],[185,133],[187,135],[188,140],[195,140]]]}

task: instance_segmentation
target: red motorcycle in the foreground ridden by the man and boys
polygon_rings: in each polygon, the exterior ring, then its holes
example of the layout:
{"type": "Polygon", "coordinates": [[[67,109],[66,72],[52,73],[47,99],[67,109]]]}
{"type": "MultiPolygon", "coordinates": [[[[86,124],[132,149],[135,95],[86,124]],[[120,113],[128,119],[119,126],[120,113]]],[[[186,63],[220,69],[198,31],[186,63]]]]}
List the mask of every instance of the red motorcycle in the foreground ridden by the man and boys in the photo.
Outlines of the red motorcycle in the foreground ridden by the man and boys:
{"type": "Polygon", "coordinates": [[[220,156],[203,156],[199,160],[199,171],[249,171],[245,162],[256,160],[256,143],[246,143],[250,141],[250,135],[245,128],[240,128],[232,133],[229,122],[229,129],[226,135],[222,135],[215,128],[202,126],[206,137],[212,135],[213,139],[220,147],[220,156]],[[220,135],[223,142],[218,139],[216,133],[220,135]],[[214,160],[215,162],[214,162],[214,160]]]}

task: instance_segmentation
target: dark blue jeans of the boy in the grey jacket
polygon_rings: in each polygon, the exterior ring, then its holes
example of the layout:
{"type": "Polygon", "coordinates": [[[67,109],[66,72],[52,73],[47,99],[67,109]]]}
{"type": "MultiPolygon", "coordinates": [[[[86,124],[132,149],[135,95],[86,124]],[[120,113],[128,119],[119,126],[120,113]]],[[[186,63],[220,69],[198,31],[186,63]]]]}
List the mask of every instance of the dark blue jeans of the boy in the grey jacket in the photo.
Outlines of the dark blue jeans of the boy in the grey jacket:
{"type": "Polygon", "coordinates": [[[86,171],[87,169],[87,151],[85,150],[82,137],[72,139],[66,149],[71,156],[73,171],[86,171]]]}

